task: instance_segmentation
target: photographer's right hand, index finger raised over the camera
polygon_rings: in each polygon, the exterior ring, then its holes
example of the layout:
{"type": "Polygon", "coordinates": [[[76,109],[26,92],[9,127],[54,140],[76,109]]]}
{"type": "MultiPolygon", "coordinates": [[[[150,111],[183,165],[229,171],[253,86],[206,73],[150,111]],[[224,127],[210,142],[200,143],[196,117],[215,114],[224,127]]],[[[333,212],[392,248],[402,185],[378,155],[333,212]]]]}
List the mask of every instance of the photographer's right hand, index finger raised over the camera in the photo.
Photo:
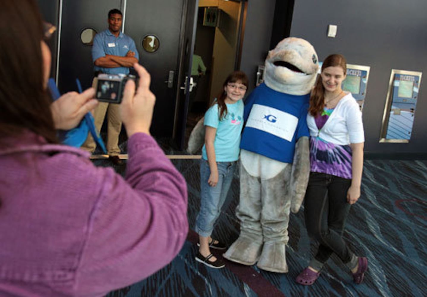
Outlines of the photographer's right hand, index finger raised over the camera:
{"type": "Polygon", "coordinates": [[[155,96],[149,88],[151,81],[149,73],[140,64],[135,63],[133,67],[139,75],[137,88],[133,79],[127,79],[120,104],[120,116],[128,137],[138,132],[150,134],[155,103],[155,96]]]}

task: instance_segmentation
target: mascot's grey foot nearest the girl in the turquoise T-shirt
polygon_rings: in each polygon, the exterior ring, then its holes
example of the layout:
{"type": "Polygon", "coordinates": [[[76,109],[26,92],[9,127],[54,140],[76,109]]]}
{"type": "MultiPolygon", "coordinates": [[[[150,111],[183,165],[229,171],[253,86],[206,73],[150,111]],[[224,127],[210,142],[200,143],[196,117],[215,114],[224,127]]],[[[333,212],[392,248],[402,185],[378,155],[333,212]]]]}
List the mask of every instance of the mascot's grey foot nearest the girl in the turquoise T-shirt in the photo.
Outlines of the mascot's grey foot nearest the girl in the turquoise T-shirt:
{"type": "Polygon", "coordinates": [[[262,247],[262,242],[240,236],[222,256],[243,265],[254,265],[260,257],[262,247]]]}

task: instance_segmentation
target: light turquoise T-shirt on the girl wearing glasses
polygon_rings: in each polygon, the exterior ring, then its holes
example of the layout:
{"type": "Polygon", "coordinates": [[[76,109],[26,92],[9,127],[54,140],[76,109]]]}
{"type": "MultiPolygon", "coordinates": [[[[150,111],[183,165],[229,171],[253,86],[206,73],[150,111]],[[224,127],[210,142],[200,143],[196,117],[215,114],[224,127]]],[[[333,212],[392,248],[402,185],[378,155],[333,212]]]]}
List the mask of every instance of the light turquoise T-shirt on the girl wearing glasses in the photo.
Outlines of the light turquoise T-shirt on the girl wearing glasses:
{"type": "MultiPolygon", "coordinates": [[[[205,113],[205,126],[216,128],[215,148],[216,162],[233,162],[239,159],[240,135],[243,128],[243,101],[227,104],[227,116],[219,120],[218,105],[211,106],[205,113]]],[[[202,158],[208,160],[206,146],[202,148],[202,158]]]]}

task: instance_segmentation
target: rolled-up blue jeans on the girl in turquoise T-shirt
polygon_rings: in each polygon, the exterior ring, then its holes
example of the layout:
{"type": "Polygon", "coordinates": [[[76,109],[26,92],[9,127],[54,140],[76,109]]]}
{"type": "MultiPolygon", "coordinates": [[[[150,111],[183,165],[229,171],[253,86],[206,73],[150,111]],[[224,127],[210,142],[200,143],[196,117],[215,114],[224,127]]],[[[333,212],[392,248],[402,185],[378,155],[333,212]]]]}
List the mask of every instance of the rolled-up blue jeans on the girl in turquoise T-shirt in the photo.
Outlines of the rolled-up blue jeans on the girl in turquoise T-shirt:
{"type": "Polygon", "coordinates": [[[200,211],[196,218],[196,232],[203,237],[211,236],[213,224],[221,212],[228,190],[233,181],[237,161],[216,162],[218,166],[218,183],[209,186],[208,179],[211,175],[209,163],[200,162],[200,211]]]}

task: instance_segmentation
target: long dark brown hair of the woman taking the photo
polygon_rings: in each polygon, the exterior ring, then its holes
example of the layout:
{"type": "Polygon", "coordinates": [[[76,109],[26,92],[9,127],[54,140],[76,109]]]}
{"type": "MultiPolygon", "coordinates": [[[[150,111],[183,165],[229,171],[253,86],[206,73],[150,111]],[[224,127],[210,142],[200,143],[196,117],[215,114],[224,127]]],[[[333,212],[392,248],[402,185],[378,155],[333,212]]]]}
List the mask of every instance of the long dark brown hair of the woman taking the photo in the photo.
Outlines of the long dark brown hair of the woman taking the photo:
{"type": "Polygon", "coordinates": [[[0,9],[0,145],[30,130],[57,143],[44,90],[43,21],[34,0],[3,1],[0,9]]]}

